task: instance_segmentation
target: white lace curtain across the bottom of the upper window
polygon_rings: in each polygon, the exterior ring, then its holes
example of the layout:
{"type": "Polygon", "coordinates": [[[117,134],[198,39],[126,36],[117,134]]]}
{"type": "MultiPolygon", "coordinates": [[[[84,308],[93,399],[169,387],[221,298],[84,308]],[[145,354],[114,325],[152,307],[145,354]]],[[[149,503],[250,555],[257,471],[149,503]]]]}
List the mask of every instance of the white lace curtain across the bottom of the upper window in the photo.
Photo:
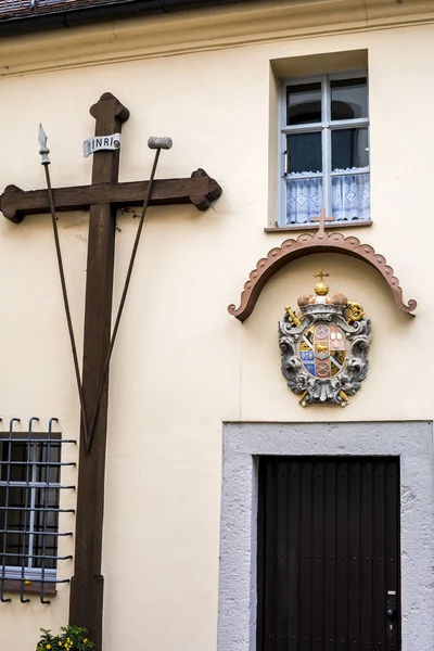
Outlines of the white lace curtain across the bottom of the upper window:
{"type": "MultiPolygon", "coordinates": [[[[290,176],[286,184],[288,225],[309,224],[322,207],[322,178],[290,176]]],[[[332,216],[335,221],[370,219],[369,173],[332,177],[332,216]]]]}

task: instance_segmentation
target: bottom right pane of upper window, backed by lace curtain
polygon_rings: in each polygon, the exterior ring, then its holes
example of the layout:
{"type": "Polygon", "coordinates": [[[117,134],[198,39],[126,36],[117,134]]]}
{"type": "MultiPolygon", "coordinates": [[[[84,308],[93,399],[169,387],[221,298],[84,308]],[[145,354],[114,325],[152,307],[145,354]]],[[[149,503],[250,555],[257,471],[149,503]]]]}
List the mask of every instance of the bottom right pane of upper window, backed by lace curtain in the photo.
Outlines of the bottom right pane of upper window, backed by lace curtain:
{"type": "Polygon", "coordinates": [[[332,215],[335,221],[369,221],[369,174],[332,177],[332,215]]]}

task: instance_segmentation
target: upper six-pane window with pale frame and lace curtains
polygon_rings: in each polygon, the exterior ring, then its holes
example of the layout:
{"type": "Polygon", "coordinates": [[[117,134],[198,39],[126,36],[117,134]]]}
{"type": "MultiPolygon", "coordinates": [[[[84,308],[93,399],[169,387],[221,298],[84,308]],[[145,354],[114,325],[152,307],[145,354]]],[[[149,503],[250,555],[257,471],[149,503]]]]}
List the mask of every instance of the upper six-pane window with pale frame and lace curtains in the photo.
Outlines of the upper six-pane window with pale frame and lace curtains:
{"type": "Polygon", "coordinates": [[[284,80],[280,132],[279,226],[370,222],[367,71],[284,80]]]}

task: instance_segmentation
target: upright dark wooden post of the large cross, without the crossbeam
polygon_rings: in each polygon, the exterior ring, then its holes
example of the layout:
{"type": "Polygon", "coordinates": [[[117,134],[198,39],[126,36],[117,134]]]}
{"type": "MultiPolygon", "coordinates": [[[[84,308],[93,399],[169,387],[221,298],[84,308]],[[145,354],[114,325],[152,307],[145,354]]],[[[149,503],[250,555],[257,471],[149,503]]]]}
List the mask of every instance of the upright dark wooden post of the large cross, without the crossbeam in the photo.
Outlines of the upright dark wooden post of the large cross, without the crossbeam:
{"type": "MultiPolygon", "coordinates": [[[[111,93],[104,93],[90,108],[95,118],[95,136],[120,132],[129,111],[111,93]]],[[[92,183],[116,183],[119,150],[94,153],[92,183]]],[[[114,276],[116,208],[110,203],[90,206],[86,281],[86,311],[82,362],[82,391],[86,410],[91,414],[107,355],[114,276]]],[[[103,576],[101,574],[104,472],[108,405],[108,376],[101,397],[93,445],[88,448],[80,430],[76,545],[71,585],[69,623],[86,627],[102,646],[103,576]]]]}

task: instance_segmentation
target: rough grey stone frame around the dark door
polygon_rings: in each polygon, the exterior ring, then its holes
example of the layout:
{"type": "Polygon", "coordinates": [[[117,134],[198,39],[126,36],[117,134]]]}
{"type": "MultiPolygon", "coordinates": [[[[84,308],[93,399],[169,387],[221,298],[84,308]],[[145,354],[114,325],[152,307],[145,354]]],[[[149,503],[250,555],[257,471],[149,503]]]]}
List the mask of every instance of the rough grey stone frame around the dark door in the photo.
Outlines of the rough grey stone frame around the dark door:
{"type": "Polygon", "coordinates": [[[400,457],[401,650],[434,649],[432,421],[226,423],[218,651],[256,651],[258,457],[400,457]]]}

